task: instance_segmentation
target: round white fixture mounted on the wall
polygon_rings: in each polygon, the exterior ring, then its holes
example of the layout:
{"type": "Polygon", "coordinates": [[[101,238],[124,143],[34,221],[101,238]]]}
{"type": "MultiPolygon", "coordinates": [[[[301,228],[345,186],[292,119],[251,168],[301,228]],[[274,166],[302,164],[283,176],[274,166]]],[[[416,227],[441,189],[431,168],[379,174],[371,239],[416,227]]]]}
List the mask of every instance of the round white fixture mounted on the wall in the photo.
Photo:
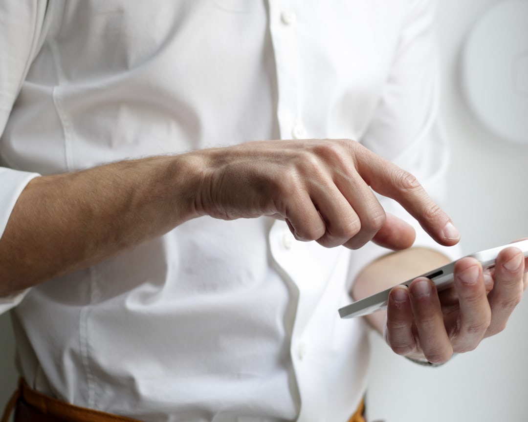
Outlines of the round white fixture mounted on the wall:
{"type": "Polygon", "coordinates": [[[496,136],[528,144],[528,0],[503,0],[470,31],[462,56],[469,108],[496,136]]]}

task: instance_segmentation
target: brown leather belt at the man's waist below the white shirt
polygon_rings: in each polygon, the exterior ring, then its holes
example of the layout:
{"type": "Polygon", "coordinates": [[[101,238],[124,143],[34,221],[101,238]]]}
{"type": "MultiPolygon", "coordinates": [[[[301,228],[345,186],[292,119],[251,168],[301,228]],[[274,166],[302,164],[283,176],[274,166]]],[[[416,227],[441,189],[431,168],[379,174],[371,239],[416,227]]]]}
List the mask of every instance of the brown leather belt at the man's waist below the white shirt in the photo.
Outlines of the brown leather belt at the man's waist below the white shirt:
{"type": "MultiPolygon", "coordinates": [[[[139,422],[125,416],[70,405],[33,390],[22,379],[18,382],[18,390],[5,408],[1,422],[8,421],[13,409],[14,422],[139,422]]],[[[348,422],[365,422],[364,411],[362,400],[348,422]]]]}

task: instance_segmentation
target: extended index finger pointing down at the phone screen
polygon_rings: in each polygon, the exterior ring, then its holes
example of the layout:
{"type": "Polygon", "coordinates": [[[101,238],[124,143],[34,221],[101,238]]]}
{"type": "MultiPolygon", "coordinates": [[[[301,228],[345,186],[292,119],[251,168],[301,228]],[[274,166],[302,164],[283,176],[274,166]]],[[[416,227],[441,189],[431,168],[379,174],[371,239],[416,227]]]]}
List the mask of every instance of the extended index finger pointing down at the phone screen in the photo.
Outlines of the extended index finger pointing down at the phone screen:
{"type": "Polygon", "coordinates": [[[400,203],[438,243],[446,246],[458,243],[457,228],[416,177],[361,144],[357,146],[356,153],[362,155],[357,160],[357,171],[372,189],[400,203]]]}

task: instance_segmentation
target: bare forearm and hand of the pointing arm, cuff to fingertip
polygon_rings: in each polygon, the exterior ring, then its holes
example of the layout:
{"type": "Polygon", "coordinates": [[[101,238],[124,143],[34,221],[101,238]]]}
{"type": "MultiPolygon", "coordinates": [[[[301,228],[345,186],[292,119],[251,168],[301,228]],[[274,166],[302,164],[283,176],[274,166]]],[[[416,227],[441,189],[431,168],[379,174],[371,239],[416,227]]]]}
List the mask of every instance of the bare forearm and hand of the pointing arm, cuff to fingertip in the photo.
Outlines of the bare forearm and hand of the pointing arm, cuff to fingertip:
{"type": "MultiPolygon", "coordinates": [[[[351,140],[258,141],[33,179],[0,238],[0,295],[79,270],[201,215],[272,215],[297,239],[402,249],[414,231],[369,185],[397,199],[438,242],[449,217],[418,181],[351,140]]],[[[449,234],[449,231],[447,232],[449,234]]],[[[452,236],[451,236],[452,237],[452,236]]]]}

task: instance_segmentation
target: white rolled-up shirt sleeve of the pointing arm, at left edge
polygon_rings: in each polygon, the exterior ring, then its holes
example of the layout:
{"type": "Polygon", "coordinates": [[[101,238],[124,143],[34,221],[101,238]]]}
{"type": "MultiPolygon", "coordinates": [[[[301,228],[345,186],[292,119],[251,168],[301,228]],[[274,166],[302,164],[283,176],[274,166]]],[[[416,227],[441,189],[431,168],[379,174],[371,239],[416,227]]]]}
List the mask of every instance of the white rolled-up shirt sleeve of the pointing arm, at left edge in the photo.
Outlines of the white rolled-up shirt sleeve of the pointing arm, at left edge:
{"type": "MultiPolygon", "coordinates": [[[[0,135],[4,132],[22,83],[42,43],[46,5],[47,2],[40,0],[0,2],[0,135]]],[[[0,142],[0,159],[1,147],[0,142]]],[[[27,183],[37,176],[33,172],[0,167],[0,238],[18,196],[27,183]]],[[[0,298],[0,313],[18,304],[26,292],[0,298]]]]}

